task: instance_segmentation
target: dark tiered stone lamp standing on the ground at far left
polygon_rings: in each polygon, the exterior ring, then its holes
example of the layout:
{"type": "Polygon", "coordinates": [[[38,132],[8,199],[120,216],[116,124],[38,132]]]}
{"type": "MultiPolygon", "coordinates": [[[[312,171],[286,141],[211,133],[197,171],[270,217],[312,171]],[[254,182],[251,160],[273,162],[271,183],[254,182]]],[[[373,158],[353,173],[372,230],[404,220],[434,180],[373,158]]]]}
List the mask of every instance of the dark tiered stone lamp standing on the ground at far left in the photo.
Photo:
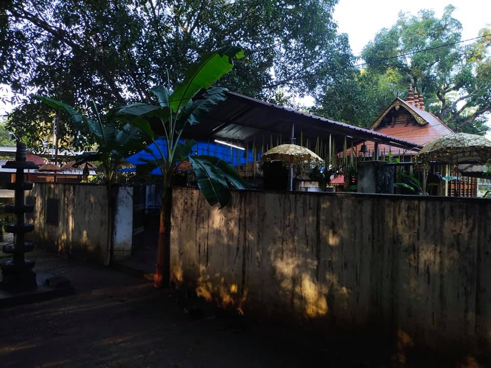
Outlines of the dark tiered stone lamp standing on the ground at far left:
{"type": "Polygon", "coordinates": [[[32,189],[32,183],[24,182],[25,169],[37,169],[33,162],[26,162],[26,144],[17,142],[15,161],[8,161],[2,166],[6,169],[16,169],[15,182],[9,183],[7,189],[15,191],[15,204],[5,207],[7,213],[15,214],[15,223],[5,226],[7,233],[14,234],[13,243],[3,246],[3,252],[11,254],[12,259],[0,263],[2,269],[2,284],[0,286],[9,292],[26,291],[35,288],[36,273],[33,259],[25,259],[26,252],[34,248],[34,244],[25,241],[25,234],[32,232],[33,225],[24,223],[24,214],[33,212],[34,206],[24,204],[24,191],[32,189]]]}

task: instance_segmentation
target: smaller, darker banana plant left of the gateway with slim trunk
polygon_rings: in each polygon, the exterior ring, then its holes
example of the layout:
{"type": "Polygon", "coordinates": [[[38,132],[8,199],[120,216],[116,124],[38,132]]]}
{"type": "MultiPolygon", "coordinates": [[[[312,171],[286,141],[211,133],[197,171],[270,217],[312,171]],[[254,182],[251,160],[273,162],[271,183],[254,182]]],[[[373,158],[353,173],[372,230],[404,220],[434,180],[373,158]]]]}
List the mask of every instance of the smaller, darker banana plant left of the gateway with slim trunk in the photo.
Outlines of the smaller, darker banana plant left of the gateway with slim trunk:
{"type": "MultiPolygon", "coordinates": [[[[106,264],[110,264],[113,254],[112,219],[115,208],[113,180],[118,166],[125,157],[146,147],[147,135],[144,130],[151,131],[149,123],[139,117],[117,116],[113,111],[101,115],[94,102],[91,102],[92,117],[78,112],[74,107],[46,96],[34,96],[55,110],[64,111],[80,127],[90,129],[96,143],[94,152],[86,152],[77,157],[77,164],[87,161],[99,161],[104,168],[105,185],[108,200],[107,210],[107,244],[106,264]],[[137,120],[133,122],[132,120],[137,120]],[[118,128],[121,127],[122,128],[118,128]],[[140,127],[138,127],[140,126],[140,127]]],[[[157,107],[154,108],[158,109],[157,107]]]]}

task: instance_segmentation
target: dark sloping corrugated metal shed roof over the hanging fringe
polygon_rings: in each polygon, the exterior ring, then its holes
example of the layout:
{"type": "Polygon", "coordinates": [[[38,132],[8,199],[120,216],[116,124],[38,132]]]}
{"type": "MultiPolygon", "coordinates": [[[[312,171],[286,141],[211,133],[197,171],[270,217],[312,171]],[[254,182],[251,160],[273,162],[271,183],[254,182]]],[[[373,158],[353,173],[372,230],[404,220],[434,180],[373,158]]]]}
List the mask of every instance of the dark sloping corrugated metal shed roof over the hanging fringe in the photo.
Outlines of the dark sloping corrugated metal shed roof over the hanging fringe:
{"type": "Polygon", "coordinates": [[[205,141],[224,139],[255,141],[260,144],[263,139],[265,143],[273,139],[274,143],[276,140],[289,143],[293,123],[297,144],[300,143],[302,133],[303,143],[308,139],[314,144],[318,138],[326,144],[331,134],[334,144],[339,149],[343,146],[345,136],[348,136],[353,144],[374,141],[405,149],[415,147],[417,149],[418,146],[404,139],[317,117],[234,92],[229,92],[228,98],[218,103],[200,124],[187,127],[184,134],[186,137],[205,141]]]}

